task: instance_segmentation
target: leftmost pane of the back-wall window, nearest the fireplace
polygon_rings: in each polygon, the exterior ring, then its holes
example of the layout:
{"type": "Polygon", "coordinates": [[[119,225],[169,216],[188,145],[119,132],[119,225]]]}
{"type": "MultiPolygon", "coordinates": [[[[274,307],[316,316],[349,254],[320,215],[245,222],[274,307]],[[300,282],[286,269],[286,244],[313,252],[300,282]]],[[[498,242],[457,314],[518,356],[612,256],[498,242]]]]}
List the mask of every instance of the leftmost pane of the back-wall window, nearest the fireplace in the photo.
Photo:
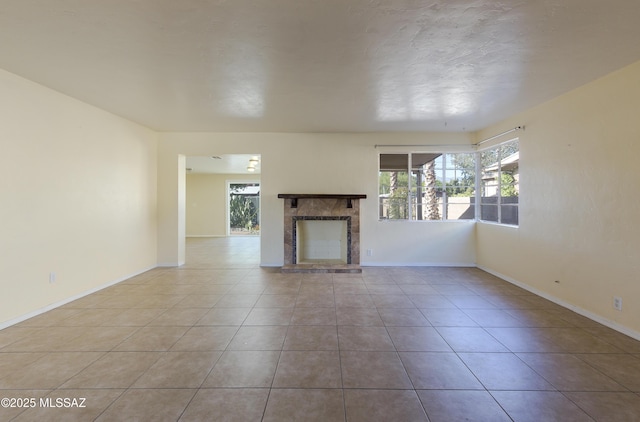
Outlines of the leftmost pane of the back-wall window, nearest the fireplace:
{"type": "Polygon", "coordinates": [[[379,198],[380,218],[401,220],[409,218],[409,155],[380,154],[379,198]]]}

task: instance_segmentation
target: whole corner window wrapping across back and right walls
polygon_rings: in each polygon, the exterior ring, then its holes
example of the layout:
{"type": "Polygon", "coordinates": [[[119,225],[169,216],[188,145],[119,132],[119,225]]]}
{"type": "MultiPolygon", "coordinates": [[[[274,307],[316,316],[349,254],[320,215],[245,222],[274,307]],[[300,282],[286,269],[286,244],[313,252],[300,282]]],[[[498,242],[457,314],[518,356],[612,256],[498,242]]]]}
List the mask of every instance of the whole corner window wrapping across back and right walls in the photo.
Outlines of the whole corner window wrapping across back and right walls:
{"type": "Polygon", "coordinates": [[[519,151],[513,140],[478,152],[380,154],[380,219],[518,225],[519,151]]]}

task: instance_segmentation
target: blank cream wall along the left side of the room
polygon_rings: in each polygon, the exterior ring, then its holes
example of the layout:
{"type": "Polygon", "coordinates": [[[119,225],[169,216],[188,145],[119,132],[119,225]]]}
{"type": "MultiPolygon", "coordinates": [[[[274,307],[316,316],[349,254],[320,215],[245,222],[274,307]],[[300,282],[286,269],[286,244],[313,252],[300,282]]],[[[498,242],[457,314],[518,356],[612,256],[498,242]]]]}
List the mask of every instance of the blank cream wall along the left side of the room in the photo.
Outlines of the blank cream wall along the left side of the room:
{"type": "Polygon", "coordinates": [[[156,265],[157,135],[2,70],[0,92],[2,327],[156,265]]]}

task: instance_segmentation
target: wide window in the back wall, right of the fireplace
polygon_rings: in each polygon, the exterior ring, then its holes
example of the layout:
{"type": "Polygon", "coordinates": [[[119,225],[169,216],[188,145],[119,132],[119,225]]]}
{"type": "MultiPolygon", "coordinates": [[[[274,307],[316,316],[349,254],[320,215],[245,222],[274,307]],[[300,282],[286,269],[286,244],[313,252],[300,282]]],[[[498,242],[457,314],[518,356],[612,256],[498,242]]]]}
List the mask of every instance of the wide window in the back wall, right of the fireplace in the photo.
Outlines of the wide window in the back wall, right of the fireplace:
{"type": "Polygon", "coordinates": [[[475,218],[474,153],[381,154],[380,218],[475,218]]]}

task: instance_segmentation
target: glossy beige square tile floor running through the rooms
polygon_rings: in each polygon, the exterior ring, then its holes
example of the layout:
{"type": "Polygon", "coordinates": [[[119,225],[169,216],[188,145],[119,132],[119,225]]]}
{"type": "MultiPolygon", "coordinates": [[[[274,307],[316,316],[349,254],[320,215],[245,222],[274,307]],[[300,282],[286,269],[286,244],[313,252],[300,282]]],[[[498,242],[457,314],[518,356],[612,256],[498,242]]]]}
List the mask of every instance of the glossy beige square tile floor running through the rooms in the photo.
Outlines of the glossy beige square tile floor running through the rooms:
{"type": "Polygon", "coordinates": [[[0,396],[36,399],[0,420],[640,420],[640,342],[480,270],[282,274],[257,238],[187,245],[0,331],[0,396]]]}

